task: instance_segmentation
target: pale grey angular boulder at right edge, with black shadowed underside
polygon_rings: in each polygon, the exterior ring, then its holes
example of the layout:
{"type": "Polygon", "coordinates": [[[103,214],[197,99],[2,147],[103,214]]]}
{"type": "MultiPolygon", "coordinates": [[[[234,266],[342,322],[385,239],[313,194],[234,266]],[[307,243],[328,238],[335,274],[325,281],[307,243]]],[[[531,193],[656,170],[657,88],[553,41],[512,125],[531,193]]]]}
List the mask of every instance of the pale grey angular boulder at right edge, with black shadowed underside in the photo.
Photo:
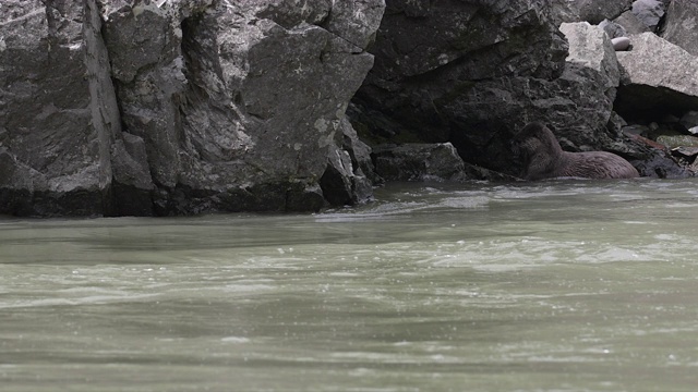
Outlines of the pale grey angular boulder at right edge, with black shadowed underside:
{"type": "Polygon", "coordinates": [[[698,58],[653,33],[633,37],[617,53],[622,73],[616,110],[626,119],[682,115],[698,109],[698,58]]]}

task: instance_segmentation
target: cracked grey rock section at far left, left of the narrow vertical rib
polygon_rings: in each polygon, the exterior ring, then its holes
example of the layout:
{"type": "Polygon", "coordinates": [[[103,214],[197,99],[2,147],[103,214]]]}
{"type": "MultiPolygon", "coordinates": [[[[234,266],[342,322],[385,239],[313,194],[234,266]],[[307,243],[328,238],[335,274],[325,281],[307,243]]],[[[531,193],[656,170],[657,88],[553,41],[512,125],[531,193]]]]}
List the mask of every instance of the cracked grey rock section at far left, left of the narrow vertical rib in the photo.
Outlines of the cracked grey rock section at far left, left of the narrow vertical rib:
{"type": "Polygon", "coordinates": [[[99,215],[111,171],[92,124],[83,10],[47,4],[0,5],[0,213],[99,215]]]}

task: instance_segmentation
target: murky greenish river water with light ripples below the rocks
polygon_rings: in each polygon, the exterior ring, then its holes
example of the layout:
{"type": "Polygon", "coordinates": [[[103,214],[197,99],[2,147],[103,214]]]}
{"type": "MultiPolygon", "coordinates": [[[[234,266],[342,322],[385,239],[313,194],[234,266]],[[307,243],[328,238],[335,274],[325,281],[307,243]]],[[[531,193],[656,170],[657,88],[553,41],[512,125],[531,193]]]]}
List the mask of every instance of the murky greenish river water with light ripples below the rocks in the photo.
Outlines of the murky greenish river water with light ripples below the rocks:
{"type": "Polygon", "coordinates": [[[698,390],[698,181],[376,198],[0,220],[0,390],[698,390]]]}

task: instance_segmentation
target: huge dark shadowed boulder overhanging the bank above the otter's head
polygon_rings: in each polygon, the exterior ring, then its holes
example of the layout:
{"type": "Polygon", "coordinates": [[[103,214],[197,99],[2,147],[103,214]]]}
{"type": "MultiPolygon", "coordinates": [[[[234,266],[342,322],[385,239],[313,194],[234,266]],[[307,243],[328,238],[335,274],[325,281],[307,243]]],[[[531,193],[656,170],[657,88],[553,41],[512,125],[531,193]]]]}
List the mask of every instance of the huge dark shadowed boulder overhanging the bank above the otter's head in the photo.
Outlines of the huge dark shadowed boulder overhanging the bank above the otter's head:
{"type": "Polygon", "coordinates": [[[509,167],[513,122],[529,107],[522,100],[565,68],[567,44],[547,11],[542,0],[387,1],[375,65],[353,102],[388,119],[352,117],[354,126],[452,142],[468,162],[509,167]]]}

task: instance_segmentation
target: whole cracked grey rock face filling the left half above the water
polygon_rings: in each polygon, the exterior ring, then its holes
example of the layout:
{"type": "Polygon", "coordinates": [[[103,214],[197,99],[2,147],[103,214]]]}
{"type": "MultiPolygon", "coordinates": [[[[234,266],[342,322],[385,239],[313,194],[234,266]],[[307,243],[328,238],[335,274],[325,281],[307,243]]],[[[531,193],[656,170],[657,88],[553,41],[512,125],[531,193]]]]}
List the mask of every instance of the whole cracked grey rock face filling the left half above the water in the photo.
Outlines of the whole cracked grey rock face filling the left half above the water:
{"type": "Polygon", "coordinates": [[[345,110],[373,64],[364,49],[383,10],[383,0],[3,1],[0,213],[316,210],[369,198],[369,158],[356,158],[345,110]],[[327,171],[346,186],[324,189],[327,171]]]}

